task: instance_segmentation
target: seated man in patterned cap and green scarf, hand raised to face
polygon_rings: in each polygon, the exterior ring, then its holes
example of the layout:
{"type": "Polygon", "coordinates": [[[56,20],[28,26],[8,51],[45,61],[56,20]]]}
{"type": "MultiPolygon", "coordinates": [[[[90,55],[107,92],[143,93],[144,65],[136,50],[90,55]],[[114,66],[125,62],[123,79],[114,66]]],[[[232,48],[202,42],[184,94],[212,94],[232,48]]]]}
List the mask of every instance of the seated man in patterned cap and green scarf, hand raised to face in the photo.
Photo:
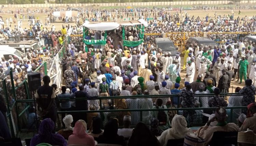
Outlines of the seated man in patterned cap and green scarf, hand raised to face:
{"type": "MultiPolygon", "coordinates": [[[[226,122],[227,111],[223,107],[218,107],[215,111],[215,116],[211,118],[207,122],[207,124],[201,127],[198,131],[200,131],[199,136],[205,140],[205,145],[207,145],[213,136],[215,131],[225,131],[225,132],[234,132],[239,131],[239,128],[234,123],[226,122]],[[217,121],[218,124],[216,126],[209,127],[210,123],[213,121],[217,121]]],[[[197,132],[198,132],[197,131],[197,132]]]]}

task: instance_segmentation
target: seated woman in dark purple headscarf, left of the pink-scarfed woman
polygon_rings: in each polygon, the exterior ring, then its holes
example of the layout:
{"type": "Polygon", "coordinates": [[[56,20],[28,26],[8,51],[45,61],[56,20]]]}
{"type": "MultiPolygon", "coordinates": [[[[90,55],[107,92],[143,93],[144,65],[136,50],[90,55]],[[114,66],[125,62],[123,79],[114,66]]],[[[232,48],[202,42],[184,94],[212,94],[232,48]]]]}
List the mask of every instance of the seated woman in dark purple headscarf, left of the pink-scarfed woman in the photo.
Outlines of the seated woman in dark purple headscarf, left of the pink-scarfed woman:
{"type": "Polygon", "coordinates": [[[54,122],[50,118],[45,118],[39,126],[38,134],[31,139],[30,146],[36,146],[40,143],[67,146],[63,136],[52,133],[54,126],[54,122]]]}

